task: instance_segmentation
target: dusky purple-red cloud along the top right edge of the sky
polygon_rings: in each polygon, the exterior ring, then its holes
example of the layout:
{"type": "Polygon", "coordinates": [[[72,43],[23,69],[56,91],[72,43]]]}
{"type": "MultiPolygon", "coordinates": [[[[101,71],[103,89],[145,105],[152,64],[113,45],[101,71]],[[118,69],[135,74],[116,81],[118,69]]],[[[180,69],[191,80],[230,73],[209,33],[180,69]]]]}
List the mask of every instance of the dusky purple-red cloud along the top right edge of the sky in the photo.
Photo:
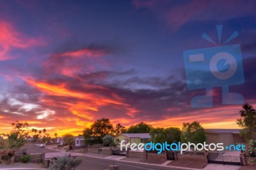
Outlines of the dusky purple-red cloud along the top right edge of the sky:
{"type": "Polygon", "coordinates": [[[173,31],[191,21],[228,20],[255,15],[255,1],[132,1],[156,13],[173,31]]]}

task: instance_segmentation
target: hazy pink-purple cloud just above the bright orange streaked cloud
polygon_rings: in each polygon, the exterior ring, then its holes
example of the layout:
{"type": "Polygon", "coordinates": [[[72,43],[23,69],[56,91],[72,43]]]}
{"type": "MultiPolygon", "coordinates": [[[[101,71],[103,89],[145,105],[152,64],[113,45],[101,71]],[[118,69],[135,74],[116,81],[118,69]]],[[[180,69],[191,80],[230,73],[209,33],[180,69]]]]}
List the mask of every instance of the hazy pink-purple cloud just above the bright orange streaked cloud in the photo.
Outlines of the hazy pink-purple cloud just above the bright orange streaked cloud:
{"type": "Polygon", "coordinates": [[[110,66],[107,56],[116,52],[109,44],[64,44],[49,55],[43,66],[47,73],[73,77],[78,73],[90,73],[102,66],[110,66]]]}

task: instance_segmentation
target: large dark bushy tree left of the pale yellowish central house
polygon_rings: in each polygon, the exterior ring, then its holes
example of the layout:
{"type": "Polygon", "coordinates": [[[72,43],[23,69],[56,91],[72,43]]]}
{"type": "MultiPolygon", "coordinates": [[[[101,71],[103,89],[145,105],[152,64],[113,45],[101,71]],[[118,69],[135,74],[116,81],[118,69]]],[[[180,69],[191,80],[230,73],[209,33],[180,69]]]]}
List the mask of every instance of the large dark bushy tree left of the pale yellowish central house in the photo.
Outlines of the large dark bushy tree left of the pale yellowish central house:
{"type": "Polygon", "coordinates": [[[89,128],[84,128],[83,136],[89,143],[92,138],[101,141],[105,135],[112,134],[113,130],[113,125],[109,119],[101,118],[96,120],[89,128]]]}

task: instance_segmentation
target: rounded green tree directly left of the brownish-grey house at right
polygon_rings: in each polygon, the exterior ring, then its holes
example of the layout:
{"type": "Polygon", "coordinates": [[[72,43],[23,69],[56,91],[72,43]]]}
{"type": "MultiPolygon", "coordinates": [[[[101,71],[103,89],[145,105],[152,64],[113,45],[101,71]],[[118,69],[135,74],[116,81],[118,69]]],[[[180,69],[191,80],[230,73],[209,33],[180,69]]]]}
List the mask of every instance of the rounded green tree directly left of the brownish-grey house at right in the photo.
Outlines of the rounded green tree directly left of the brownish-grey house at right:
{"type": "Polygon", "coordinates": [[[204,128],[198,121],[183,123],[181,141],[182,143],[204,143],[206,140],[204,128]]]}

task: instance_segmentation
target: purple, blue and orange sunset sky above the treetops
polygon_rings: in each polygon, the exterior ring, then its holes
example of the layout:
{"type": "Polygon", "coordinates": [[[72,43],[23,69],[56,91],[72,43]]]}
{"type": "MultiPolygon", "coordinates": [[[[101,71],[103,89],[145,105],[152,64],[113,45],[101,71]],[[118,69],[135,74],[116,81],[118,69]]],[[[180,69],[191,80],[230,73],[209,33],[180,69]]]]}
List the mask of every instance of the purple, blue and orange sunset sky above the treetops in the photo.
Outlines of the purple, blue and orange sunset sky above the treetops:
{"type": "MultiPolygon", "coordinates": [[[[100,118],[125,127],[238,128],[241,104],[192,107],[184,50],[241,45],[244,83],[229,89],[256,107],[255,1],[1,1],[0,132],[13,121],[81,134],[100,118]],[[222,25],[220,43],[216,25],[222,25]]],[[[198,77],[200,77],[198,73],[198,77]]]]}

